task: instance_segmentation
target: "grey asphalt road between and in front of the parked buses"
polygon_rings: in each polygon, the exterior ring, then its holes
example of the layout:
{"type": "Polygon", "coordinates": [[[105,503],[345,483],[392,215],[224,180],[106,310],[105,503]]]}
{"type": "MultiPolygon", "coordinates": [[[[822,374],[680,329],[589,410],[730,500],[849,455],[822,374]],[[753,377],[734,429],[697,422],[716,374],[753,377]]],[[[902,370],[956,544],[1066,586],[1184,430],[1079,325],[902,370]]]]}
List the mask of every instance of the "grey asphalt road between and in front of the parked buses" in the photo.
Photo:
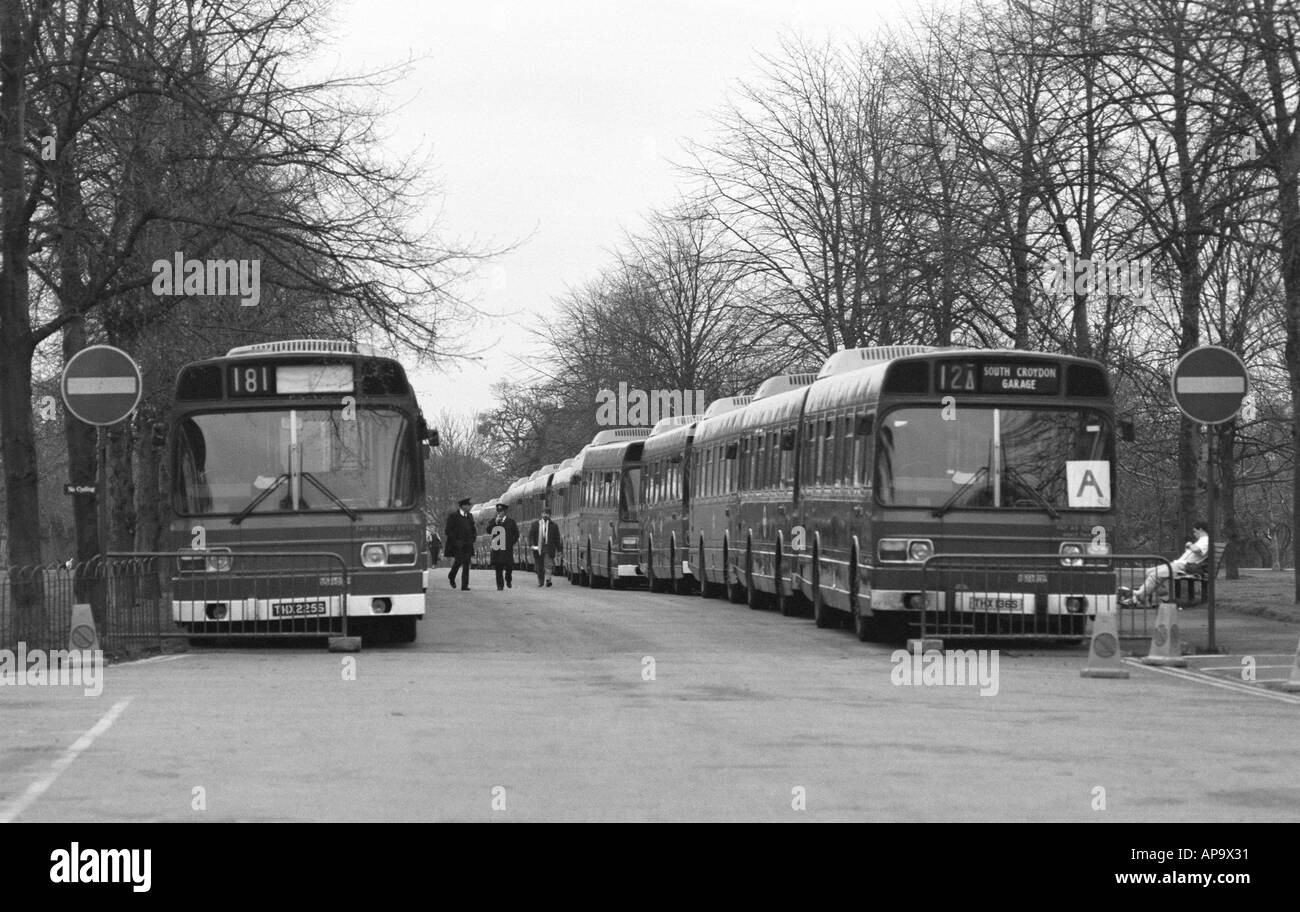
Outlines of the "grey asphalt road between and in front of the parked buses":
{"type": "Polygon", "coordinates": [[[848,630],[515,582],[434,589],[411,646],[0,687],[0,821],[1300,820],[1300,700],[1082,678],[1078,647],[1004,647],[996,694],[898,685],[848,630]]]}

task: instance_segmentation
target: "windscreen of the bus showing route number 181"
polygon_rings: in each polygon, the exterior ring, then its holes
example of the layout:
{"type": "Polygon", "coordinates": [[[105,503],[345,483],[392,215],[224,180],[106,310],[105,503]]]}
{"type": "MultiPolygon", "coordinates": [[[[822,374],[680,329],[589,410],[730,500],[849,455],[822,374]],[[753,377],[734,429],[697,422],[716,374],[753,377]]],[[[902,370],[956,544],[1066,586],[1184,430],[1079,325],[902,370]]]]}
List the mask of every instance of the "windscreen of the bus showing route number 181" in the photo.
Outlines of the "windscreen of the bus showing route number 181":
{"type": "Polygon", "coordinates": [[[416,462],[411,422],[395,409],[196,413],[177,427],[177,509],[238,514],[268,488],[252,514],[410,509],[416,462]],[[308,483],[285,483],[295,477],[308,483]]]}

